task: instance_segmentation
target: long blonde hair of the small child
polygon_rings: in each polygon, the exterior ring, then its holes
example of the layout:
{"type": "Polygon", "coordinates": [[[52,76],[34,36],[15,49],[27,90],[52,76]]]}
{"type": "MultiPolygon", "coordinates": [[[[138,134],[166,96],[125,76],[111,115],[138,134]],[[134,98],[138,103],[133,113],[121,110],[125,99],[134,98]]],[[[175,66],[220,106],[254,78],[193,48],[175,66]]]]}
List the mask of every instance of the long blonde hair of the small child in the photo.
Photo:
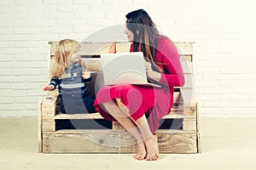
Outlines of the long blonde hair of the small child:
{"type": "MultiPolygon", "coordinates": [[[[57,44],[55,64],[51,70],[52,77],[61,77],[63,75],[65,67],[67,66],[68,57],[73,54],[75,49],[80,47],[79,42],[72,39],[64,39],[57,44]]],[[[82,65],[81,61],[79,64],[82,65]]]]}

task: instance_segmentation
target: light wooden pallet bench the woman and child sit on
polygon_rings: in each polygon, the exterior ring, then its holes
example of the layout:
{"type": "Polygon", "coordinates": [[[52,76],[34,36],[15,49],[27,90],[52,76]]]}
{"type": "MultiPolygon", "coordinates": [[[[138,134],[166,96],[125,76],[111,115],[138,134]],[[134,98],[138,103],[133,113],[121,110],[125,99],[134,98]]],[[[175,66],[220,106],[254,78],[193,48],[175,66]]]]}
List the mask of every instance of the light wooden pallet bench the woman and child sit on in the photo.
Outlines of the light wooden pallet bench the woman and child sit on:
{"type": "MultiPolygon", "coordinates": [[[[57,42],[49,42],[49,67],[54,63],[57,42]]],[[[95,92],[101,71],[100,54],[108,53],[111,42],[81,42],[80,54],[93,80],[95,92]]],[[[176,87],[172,111],[162,118],[156,135],[160,153],[199,153],[199,111],[194,97],[193,42],[175,42],[185,74],[185,86],[176,87]]],[[[117,51],[128,52],[129,42],[117,42],[117,51]]],[[[91,94],[95,96],[95,94],[91,94]]],[[[43,153],[135,153],[136,140],[118,122],[108,122],[99,113],[62,114],[58,91],[38,102],[38,151],[43,153]]]]}

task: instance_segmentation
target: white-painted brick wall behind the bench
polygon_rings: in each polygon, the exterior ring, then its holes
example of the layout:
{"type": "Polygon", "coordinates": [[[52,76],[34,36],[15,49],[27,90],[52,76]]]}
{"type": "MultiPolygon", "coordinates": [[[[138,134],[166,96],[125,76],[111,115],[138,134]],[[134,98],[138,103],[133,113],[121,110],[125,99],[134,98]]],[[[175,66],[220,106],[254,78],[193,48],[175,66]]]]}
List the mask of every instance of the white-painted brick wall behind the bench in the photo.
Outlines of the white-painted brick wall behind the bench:
{"type": "Polygon", "coordinates": [[[195,100],[202,115],[256,113],[253,0],[8,0],[0,3],[0,116],[37,116],[48,41],[83,40],[124,24],[125,14],[137,8],[173,41],[195,42],[195,100]]]}

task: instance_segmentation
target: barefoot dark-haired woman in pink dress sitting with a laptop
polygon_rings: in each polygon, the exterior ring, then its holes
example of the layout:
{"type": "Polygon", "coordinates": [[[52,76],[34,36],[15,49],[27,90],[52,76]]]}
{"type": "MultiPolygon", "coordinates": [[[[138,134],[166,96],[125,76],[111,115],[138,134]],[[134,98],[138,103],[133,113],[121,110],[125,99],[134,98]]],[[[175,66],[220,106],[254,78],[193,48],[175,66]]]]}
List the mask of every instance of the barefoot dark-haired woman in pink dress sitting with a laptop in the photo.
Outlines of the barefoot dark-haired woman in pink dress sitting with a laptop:
{"type": "MultiPolygon", "coordinates": [[[[143,9],[125,15],[125,34],[131,52],[143,52],[149,82],[162,88],[136,85],[105,86],[96,95],[95,107],[101,115],[119,122],[137,139],[137,160],[155,161],[159,147],[155,131],[161,117],[171,111],[173,87],[184,84],[183,69],[172,41],[160,36],[154,22],[143,9]]],[[[115,44],[110,49],[115,52],[115,44]]]]}

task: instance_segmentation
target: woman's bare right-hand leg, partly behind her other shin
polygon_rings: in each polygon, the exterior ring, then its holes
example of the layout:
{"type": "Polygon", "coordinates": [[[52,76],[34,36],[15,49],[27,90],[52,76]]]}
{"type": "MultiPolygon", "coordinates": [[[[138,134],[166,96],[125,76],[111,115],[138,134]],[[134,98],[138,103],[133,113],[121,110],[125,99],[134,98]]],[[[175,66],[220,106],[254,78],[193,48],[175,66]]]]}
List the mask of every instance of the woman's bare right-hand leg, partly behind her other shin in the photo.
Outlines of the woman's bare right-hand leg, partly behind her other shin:
{"type": "MultiPolygon", "coordinates": [[[[125,113],[126,116],[130,116],[129,109],[120,101],[120,99],[116,99],[119,108],[125,113]]],[[[132,120],[132,119],[131,119],[132,120]]],[[[159,157],[159,147],[157,142],[157,137],[151,133],[150,128],[148,126],[148,121],[145,115],[141,118],[137,119],[135,122],[137,127],[142,134],[143,141],[146,146],[147,156],[146,160],[148,161],[155,161],[159,157]]]]}

